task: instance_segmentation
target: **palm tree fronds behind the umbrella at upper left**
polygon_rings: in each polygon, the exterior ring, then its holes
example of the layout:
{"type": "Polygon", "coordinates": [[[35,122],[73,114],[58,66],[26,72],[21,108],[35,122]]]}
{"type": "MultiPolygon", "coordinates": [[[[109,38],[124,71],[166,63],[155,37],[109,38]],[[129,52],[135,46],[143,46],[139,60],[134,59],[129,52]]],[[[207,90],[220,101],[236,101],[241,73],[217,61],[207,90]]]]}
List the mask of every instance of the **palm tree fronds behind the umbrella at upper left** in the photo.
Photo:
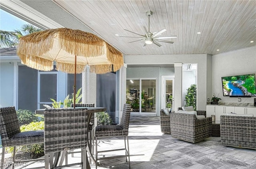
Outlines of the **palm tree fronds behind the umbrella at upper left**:
{"type": "Polygon", "coordinates": [[[14,31],[0,30],[0,47],[17,46],[20,37],[37,31],[42,31],[42,29],[31,24],[24,24],[20,29],[14,31]]]}

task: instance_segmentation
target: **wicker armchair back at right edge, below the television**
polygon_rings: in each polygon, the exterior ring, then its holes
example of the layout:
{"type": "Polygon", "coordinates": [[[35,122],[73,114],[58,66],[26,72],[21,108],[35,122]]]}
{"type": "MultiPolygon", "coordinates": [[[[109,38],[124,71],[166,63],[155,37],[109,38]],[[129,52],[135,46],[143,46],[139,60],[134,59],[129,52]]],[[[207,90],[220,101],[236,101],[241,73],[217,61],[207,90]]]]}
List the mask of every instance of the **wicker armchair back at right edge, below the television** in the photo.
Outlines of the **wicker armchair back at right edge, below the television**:
{"type": "Polygon", "coordinates": [[[220,116],[223,145],[256,149],[256,117],[220,116]]]}

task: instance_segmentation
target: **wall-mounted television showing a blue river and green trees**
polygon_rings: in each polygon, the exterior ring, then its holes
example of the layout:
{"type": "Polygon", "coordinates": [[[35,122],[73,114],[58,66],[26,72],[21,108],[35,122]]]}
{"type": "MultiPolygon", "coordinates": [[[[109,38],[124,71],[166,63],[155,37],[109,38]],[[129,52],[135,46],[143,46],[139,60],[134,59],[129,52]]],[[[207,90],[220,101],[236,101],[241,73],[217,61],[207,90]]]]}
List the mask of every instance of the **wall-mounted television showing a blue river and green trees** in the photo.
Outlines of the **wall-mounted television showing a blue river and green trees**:
{"type": "Polygon", "coordinates": [[[222,77],[223,96],[256,96],[255,74],[222,77]]]}

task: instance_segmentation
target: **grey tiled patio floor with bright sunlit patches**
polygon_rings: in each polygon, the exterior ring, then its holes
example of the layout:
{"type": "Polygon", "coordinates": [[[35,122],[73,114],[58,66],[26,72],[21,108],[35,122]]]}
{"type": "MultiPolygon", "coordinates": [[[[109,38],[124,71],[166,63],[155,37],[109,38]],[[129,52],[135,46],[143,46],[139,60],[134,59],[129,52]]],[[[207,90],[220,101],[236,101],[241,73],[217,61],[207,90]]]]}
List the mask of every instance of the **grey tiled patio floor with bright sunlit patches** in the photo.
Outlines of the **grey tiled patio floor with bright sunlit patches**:
{"type": "MultiPolygon", "coordinates": [[[[99,150],[124,145],[122,138],[99,141],[99,150]]],[[[256,169],[256,151],[220,144],[220,141],[188,143],[162,134],[156,116],[131,116],[129,126],[130,161],[132,169],[256,169]]],[[[80,160],[80,154],[68,161],[80,160]]],[[[28,167],[44,166],[44,161],[28,167]]],[[[28,168],[25,167],[25,168],[28,168]]],[[[66,167],[65,169],[78,169],[66,167]]],[[[95,165],[91,165],[95,169],[95,165]]],[[[128,169],[125,158],[100,161],[98,169],[128,169]]]]}

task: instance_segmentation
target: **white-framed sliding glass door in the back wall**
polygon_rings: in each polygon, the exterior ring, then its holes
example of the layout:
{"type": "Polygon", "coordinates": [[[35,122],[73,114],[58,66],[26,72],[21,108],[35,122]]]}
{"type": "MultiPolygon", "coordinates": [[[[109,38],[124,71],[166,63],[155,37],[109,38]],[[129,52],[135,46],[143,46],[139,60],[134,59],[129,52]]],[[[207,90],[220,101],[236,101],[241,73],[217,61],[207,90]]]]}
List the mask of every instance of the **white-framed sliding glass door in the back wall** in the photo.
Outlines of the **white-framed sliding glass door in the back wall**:
{"type": "Polygon", "coordinates": [[[127,79],[126,102],[132,105],[132,112],[156,113],[156,79],[127,79]]]}

